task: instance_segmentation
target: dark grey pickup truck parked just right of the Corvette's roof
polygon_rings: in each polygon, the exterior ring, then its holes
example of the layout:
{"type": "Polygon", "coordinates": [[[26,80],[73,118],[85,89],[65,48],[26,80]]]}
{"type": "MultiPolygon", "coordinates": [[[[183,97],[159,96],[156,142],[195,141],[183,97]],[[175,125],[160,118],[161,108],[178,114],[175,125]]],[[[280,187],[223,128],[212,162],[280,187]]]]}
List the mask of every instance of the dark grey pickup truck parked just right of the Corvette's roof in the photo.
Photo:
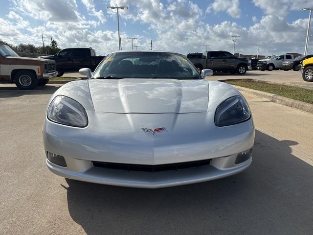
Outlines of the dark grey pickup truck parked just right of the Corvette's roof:
{"type": "Polygon", "coordinates": [[[201,72],[203,69],[210,69],[214,72],[230,72],[245,74],[252,70],[251,60],[238,58],[227,51],[206,51],[204,53],[191,53],[187,58],[201,72]]]}

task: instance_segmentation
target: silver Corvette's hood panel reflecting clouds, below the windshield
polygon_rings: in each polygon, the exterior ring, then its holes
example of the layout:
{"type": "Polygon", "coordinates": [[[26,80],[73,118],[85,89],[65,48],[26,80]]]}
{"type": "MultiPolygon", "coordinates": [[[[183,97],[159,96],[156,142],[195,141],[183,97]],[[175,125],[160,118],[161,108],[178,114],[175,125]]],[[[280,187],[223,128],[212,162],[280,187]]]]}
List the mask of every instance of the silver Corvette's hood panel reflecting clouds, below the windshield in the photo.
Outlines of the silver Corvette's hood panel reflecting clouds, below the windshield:
{"type": "Polygon", "coordinates": [[[199,113],[207,112],[206,80],[89,79],[96,112],[107,113],[199,113]]]}

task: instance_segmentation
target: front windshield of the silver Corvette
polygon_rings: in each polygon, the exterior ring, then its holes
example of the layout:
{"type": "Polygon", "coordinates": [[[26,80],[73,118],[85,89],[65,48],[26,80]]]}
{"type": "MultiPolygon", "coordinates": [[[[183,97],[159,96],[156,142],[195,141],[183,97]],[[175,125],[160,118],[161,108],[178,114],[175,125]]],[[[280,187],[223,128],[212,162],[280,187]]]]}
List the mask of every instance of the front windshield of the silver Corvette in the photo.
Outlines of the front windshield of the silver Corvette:
{"type": "Polygon", "coordinates": [[[108,55],[93,78],[201,79],[183,55],[169,52],[117,52],[108,55]]]}

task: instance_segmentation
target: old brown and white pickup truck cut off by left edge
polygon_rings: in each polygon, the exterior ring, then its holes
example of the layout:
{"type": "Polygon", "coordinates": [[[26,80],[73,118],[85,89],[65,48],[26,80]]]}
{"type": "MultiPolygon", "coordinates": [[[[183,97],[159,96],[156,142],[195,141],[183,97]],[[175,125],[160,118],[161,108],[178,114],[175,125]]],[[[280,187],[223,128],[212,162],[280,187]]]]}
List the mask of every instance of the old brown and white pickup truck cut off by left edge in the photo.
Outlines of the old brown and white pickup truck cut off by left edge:
{"type": "Polygon", "coordinates": [[[15,83],[21,90],[31,90],[56,76],[54,60],[20,57],[11,47],[0,44],[1,83],[15,83]]]}

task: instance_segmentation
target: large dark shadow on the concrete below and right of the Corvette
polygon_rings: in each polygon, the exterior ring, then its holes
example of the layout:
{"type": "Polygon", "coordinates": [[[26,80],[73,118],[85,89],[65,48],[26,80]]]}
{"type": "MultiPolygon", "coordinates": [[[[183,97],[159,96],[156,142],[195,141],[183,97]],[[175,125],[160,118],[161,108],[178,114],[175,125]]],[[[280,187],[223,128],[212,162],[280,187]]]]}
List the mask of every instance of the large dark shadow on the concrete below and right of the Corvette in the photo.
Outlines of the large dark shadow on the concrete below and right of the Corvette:
{"type": "Polygon", "coordinates": [[[295,141],[256,131],[253,162],[220,180],[141,189],[67,180],[68,211],[87,234],[311,234],[313,166],[295,141]]]}

